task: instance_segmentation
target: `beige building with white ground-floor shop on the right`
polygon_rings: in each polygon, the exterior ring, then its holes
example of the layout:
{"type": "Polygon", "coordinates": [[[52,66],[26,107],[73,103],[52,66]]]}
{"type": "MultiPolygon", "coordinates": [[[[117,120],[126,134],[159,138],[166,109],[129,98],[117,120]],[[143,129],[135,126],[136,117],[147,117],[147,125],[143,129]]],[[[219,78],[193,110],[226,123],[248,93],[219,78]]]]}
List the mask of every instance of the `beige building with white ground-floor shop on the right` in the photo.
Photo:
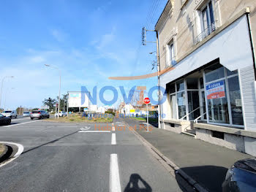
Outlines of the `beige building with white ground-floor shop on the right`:
{"type": "Polygon", "coordinates": [[[256,1],[167,1],[155,30],[160,128],[256,155],[256,1]]]}

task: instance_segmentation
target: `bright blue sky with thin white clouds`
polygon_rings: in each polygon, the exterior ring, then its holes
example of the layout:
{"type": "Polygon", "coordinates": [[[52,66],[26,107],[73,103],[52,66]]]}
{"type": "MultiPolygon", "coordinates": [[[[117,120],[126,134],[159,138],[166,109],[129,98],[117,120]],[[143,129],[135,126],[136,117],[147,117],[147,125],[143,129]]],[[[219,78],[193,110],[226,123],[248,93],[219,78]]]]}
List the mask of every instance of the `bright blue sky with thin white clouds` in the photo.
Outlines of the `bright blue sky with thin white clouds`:
{"type": "MultiPolygon", "coordinates": [[[[133,86],[157,85],[157,77],[118,81],[108,77],[156,72],[152,63],[156,44],[141,45],[143,26],[154,29],[167,0],[44,0],[1,1],[0,80],[4,77],[1,107],[41,107],[48,97],[80,91],[97,93],[110,85],[129,94],[133,86]],[[45,66],[55,66],[53,69],[45,66]],[[14,76],[10,78],[9,76],[14,76]]],[[[155,41],[155,33],[147,33],[155,41]]],[[[0,85],[1,86],[1,85],[0,85]]],[[[147,93],[146,91],[146,93],[147,93]]],[[[157,91],[154,91],[154,96],[157,91]]],[[[106,100],[113,99],[105,91],[106,100]]],[[[98,106],[102,106],[97,99],[98,106]]]]}

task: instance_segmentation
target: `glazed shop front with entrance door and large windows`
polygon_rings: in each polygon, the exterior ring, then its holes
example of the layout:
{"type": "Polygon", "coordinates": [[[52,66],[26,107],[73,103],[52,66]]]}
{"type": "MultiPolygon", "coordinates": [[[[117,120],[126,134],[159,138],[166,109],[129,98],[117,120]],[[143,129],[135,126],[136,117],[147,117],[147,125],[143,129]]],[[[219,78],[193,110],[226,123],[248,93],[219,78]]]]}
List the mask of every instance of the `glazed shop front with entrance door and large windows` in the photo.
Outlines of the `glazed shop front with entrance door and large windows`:
{"type": "Polygon", "coordinates": [[[169,118],[244,128],[238,72],[219,59],[167,84],[169,118]]]}

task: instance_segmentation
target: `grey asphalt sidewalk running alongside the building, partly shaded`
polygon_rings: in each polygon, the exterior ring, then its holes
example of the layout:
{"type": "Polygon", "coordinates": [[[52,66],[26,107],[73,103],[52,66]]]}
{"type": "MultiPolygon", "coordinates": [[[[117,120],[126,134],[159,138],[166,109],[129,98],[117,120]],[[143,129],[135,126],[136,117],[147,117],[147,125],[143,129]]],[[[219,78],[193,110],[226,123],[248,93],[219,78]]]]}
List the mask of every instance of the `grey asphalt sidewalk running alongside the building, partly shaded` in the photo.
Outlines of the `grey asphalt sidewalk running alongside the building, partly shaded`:
{"type": "MultiPolygon", "coordinates": [[[[129,118],[125,121],[129,126],[141,124],[129,118]]],[[[208,191],[222,191],[227,169],[240,159],[253,158],[251,155],[212,145],[184,134],[159,128],[146,132],[145,129],[137,127],[138,134],[208,191]]]]}

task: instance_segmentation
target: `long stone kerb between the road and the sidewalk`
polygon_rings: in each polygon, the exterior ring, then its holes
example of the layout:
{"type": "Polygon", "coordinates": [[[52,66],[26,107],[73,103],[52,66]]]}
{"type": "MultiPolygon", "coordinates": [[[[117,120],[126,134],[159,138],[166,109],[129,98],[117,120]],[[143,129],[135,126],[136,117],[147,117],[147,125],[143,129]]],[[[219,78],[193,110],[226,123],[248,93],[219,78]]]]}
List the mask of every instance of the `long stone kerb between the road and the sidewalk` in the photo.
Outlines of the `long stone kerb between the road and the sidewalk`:
{"type": "MultiPolygon", "coordinates": [[[[125,122],[126,123],[126,122],[125,122]]],[[[129,124],[127,124],[127,127],[129,127],[129,124]]],[[[182,177],[184,177],[187,182],[192,185],[197,191],[199,192],[208,192],[206,188],[203,188],[199,183],[197,183],[195,180],[193,180],[192,177],[190,177],[187,173],[181,170],[179,166],[173,163],[173,161],[170,161],[169,158],[167,158],[165,155],[163,155],[159,150],[157,150],[156,147],[151,145],[150,142],[148,142],[146,139],[144,139],[140,134],[137,133],[133,128],[129,128],[130,131],[132,131],[133,134],[143,143],[144,146],[148,148],[148,150],[151,151],[152,154],[154,154],[154,157],[157,158],[157,160],[164,166],[170,174],[175,176],[175,173],[180,174],[182,177]],[[157,157],[158,156],[158,157],[157,157]],[[171,170],[170,170],[171,169],[171,170]]]]}

